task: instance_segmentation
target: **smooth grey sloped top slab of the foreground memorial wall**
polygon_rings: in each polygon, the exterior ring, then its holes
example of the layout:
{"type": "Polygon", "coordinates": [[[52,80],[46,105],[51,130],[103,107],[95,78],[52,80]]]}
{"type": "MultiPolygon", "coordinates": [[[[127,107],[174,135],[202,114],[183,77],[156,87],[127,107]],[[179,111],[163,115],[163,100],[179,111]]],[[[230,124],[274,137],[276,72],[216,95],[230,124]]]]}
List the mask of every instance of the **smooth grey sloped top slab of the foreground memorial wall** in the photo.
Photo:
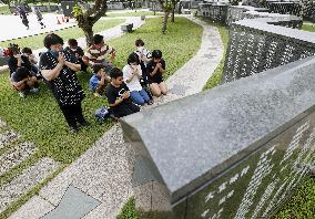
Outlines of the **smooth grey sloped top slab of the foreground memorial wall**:
{"type": "Polygon", "coordinates": [[[125,138],[143,142],[176,201],[309,108],[314,67],[297,61],[124,117],[125,138]]]}

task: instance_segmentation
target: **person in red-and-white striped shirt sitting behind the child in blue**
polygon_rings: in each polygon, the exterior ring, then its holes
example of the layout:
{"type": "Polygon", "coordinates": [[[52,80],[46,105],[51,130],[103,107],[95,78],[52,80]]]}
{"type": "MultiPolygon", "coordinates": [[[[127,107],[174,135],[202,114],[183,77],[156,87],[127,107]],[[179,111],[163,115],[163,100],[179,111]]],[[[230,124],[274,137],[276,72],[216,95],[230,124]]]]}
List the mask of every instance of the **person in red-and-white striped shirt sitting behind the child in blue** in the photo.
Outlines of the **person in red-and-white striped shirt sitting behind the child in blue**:
{"type": "Polygon", "coordinates": [[[90,46],[84,53],[84,63],[89,66],[101,64],[103,65],[105,72],[110,72],[110,70],[113,67],[112,62],[115,58],[115,50],[105,44],[103,35],[95,34],[93,42],[94,44],[90,46]],[[106,60],[106,54],[111,55],[110,60],[106,60]]]}

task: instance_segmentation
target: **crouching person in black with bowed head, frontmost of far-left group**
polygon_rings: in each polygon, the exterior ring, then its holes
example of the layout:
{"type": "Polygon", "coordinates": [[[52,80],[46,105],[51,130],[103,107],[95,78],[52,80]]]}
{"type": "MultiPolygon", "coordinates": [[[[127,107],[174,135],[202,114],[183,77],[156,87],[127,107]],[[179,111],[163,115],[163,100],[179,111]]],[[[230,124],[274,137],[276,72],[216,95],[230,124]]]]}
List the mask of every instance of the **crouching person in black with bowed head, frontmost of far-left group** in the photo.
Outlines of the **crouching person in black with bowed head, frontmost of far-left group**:
{"type": "Polygon", "coordinates": [[[37,77],[24,66],[18,67],[17,71],[12,73],[11,83],[19,91],[19,95],[22,98],[26,97],[26,92],[28,91],[31,93],[38,92],[37,77]]]}

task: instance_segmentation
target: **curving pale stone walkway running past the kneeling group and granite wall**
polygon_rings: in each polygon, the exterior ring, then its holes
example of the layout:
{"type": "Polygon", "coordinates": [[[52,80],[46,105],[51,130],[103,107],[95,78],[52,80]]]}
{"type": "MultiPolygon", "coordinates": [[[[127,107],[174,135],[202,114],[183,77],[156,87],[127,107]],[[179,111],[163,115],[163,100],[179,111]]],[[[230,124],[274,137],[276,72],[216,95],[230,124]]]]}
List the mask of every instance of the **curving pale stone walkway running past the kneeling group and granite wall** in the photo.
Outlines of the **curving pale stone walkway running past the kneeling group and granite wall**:
{"type": "MultiPolygon", "coordinates": [[[[167,80],[171,92],[156,100],[155,105],[201,92],[222,59],[223,45],[217,29],[192,20],[204,28],[201,49],[167,80]]],[[[132,163],[133,156],[128,154],[121,127],[115,124],[10,218],[67,218],[69,213],[77,213],[84,219],[113,219],[133,195],[132,163]],[[90,207],[77,197],[91,204],[90,207]]]]}

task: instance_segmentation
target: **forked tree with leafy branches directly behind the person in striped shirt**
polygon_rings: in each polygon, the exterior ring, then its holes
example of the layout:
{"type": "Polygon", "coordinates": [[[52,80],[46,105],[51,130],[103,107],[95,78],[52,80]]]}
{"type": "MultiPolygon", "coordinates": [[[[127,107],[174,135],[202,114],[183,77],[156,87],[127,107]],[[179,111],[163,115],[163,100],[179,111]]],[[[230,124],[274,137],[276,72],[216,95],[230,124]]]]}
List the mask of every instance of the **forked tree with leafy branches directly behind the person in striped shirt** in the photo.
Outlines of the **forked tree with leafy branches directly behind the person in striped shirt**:
{"type": "Polygon", "coordinates": [[[73,17],[78,21],[79,28],[81,28],[84,32],[88,46],[93,43],[94,23],[106,13],[106,0],[95,0],[94,7],[85,11],[79,4],[73,7],[73,17]]]}

